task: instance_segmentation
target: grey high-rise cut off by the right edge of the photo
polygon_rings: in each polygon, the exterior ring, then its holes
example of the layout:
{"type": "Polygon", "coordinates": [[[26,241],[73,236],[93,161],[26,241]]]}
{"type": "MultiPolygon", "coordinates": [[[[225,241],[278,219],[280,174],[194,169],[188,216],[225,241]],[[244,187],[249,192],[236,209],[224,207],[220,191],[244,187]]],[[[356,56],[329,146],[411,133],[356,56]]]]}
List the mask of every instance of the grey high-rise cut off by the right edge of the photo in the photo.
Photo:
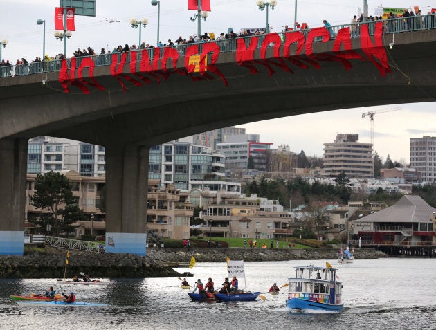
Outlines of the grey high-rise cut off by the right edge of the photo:
{"type": "Polygon", "coordinates": [[[436,137],[410,138],[410,167],[421,174],[419,182],[436,182],[436,137]]]}

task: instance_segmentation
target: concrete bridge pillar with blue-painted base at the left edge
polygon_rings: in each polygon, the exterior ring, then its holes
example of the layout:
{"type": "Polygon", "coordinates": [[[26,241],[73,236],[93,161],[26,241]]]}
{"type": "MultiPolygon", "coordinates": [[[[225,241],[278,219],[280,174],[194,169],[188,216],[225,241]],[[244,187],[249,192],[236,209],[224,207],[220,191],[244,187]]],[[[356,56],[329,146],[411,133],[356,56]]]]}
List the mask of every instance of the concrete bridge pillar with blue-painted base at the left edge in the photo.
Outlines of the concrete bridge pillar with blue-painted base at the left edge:
{"type": "Polygon", "coordinates": [[[0,255],[23,255],[27,143],[0,139],[0,255]]]}

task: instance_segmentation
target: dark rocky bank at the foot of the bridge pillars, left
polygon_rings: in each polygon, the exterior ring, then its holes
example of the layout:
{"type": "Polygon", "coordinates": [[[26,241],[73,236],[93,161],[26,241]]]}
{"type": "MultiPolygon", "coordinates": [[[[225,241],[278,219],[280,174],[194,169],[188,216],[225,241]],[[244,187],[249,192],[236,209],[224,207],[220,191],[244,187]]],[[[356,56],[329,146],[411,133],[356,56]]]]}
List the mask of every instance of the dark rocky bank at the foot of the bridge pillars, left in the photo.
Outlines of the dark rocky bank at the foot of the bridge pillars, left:
{"type": "Polygon", "coordinates": [[[45,248],[42,253],[26,253],[22,257],[0,256],[0,278],[63,278],[65,270],[66,279],[80,272],[89,274],[91,279],[179,275],[148,256],[71,250],[68,259],[66,265],[66,250],[53,248],[45,248]]]}

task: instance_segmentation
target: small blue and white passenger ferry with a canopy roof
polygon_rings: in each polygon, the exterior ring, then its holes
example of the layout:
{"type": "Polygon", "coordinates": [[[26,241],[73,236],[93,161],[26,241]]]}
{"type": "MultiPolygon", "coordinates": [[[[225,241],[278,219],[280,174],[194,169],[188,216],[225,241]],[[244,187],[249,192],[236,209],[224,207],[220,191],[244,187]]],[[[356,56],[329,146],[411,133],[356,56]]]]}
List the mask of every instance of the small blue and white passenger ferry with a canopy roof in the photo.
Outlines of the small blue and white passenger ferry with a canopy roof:
{"type": "Polygon", "coordinates": [[[294,267],[295,277],[289,277],[286,306],[299,310],[342,311],[341,282],[336,279],[336,269],[326,262],[325,267],[294,267]]]}

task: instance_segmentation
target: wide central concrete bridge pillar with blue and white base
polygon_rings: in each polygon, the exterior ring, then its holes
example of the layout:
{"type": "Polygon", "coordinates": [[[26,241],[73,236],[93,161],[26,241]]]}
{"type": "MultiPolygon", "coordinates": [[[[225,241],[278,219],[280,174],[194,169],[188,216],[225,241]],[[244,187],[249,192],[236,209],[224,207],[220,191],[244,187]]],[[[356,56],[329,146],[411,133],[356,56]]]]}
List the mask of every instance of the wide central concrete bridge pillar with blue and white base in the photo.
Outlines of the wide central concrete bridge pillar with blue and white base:
{"type": "Polygon", "coordinates": [[[145,255],[149,147],[106,147],[106,251],[145,255]]]}

